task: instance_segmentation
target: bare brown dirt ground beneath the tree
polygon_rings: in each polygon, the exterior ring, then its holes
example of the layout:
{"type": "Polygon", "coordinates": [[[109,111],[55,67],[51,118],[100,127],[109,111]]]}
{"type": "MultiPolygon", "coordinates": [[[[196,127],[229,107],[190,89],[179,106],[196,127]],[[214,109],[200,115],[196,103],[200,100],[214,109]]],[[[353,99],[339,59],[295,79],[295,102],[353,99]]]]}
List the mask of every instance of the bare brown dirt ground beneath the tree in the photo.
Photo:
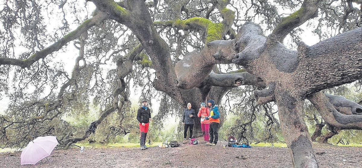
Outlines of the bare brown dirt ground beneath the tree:
{"type": "MultiPolygon", "coordinates": [[[[362,147],[339,147],[315,145],[315,152],[321,168],[361,168],[362,147]]],[[[41,160],[36,165],[20,165],[20,152],[0,153],[0,168],[290,168],[291,157],[288,148],[252,147],[233,148],[217,146],[182,145],[175,148],[86,148],[54,150],[49,161],[41,160]]]]}

